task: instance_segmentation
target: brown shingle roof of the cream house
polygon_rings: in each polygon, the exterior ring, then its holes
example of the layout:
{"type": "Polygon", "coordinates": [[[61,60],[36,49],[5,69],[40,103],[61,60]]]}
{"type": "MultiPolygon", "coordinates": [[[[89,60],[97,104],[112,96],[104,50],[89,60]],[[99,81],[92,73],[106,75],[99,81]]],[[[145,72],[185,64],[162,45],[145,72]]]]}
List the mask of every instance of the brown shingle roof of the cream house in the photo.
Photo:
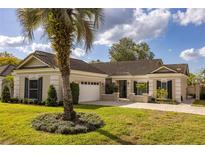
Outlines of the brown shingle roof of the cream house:
{"type": "MultiPolygon", "coordinates": [[[[58,67],[57,58],[55,54],[35,51],[32,55],[39,58],[50,67],[58,67]]],[[[153,60],[136,60],[136,61],[122,61],[122,62],[99,62],[86,63],[79,59],[71,58],[71,69],[80,70],[93,73],[101,73],[108,75],[145,75],[158,69],[161,66],[166,66],[170,69],[188,75],[187,64],[163,64],[161,59],[153,60]]]]}

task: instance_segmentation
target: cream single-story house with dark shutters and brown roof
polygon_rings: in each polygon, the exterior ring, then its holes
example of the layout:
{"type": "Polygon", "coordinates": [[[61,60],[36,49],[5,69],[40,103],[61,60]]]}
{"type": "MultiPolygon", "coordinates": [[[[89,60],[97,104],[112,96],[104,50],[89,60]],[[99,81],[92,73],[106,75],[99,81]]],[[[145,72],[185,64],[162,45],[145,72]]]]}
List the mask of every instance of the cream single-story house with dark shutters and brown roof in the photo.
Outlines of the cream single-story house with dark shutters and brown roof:
{"type": "MultiPolygon", "coordinates": [[[[131,99],[154,96],[157,88],[168,91],[168,98],[181,102],[186,99],[187,64],[163,64],[161,59],[123,62],[86,63],[71,58],[71,81],[79,83],[80,102],[96,101],[106,95],[107,83],[119,86],[119,97],[131,99]],[[136,88],[144,83],[146,88],[136,88]]],[[[14,70],[14,96],[45,100],[50,85],[62,100],[62,80],[55,54],[35,51],[14,70]]],[[[136,101],[136,99],[132,99],[136,101]]]]}

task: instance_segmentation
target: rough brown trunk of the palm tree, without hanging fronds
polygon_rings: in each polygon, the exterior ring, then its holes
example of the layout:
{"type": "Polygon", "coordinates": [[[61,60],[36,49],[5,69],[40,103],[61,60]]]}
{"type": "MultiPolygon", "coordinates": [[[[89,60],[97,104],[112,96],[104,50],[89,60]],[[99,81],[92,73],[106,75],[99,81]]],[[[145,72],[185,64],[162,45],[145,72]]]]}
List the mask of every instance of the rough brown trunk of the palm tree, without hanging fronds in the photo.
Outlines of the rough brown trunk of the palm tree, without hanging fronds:
{"type": "Polygon", "coordinates": [[[72,25],[70,27],[65,25],[60,9],[51,9],[50,13],[49,31],[52,32],[50,37],[52,46],[57,53],[58,66],[63,84],[63,119],[73,120],[75,119],[75,111],[73,110],[70,88],[70,54],[73,41],[73,27],[72,25]]]}

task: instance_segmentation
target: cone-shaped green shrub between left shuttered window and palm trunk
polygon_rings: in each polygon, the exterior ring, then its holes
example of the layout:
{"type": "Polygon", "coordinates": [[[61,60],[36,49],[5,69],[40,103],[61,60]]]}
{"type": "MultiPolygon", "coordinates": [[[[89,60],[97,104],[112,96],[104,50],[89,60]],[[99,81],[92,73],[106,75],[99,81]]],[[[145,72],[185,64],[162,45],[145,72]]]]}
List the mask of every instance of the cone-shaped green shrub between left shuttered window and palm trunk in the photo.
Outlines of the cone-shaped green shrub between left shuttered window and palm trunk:
{"type": "Polygon", "coordinates": [[[57,93],[56,93],[56,89],[53,85],[49,86],[48,89],[48,98],[46,100],[46,105],[47,106],[57,106],[57,93]]]}

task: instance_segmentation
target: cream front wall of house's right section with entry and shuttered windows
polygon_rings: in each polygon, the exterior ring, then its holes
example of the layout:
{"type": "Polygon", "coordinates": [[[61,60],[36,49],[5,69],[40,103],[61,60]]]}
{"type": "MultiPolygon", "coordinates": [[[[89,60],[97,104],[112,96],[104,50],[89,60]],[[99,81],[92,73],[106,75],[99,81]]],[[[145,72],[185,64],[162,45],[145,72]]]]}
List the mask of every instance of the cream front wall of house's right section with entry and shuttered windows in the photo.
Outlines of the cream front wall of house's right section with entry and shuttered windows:
{"type": "Polygon", "coordinates": [[[186,76],[182,74],[112,76],[109,82],[117,85],[118,98],[129,99],[130,102],[149,102],[157,97],[157,89],[167,91],[166,99],[176,102],[186,100],[186,76]]]}

